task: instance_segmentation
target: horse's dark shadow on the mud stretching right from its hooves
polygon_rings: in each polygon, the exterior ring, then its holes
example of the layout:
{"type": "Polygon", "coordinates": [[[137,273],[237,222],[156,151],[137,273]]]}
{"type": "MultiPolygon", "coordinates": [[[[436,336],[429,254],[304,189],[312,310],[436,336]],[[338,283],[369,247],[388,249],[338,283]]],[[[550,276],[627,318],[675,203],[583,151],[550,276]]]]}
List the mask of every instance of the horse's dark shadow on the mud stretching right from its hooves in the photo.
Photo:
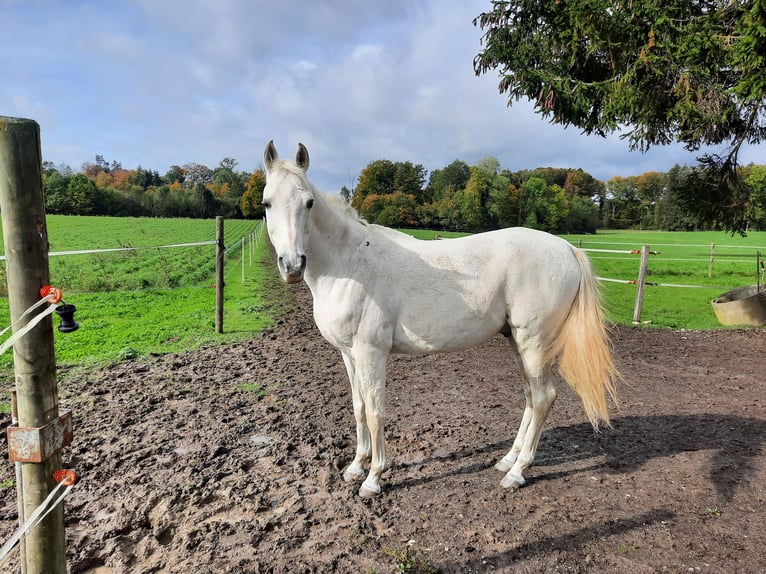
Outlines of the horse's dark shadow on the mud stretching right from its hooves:
{"type": "MultiPolygon", "coordinates": [[[[748,481],[753,459],[761,452],[766,437],[766,420],[733,415],[654,415],[629,416],[613,420],[611,428],[599,433],[587,424],[556,427],[543,432],[535,460],[536,473],[528,483],[560,478],[583,470],[632,472],[649,460],[682,452],[714,450],[709,468],[713,486],[724,500],[731,500],[738,484],[748,481]],[[546,467],[572,465],[577,461],[601,458],[586,468],[582,465],[545,472],[546,467]]],[[[396,480],[389,489],[415,486],[448,476],[471,474],[492,466],[511,447],[512,440],[495,442],[475,449],[464,448],[441,457],[419,461],[460,460],[487,454],[493,458],[456,466],[448,472],[396,480]]],[[[412,464],[394,464],[405,468],[412,464]]]]}

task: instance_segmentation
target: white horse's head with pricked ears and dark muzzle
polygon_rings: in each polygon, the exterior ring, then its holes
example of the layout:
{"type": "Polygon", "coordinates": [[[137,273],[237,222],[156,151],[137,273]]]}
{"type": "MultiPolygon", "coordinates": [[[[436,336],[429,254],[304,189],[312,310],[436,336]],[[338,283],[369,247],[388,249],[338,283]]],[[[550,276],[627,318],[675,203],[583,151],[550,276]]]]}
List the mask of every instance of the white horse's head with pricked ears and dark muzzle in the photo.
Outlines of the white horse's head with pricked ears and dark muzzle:
{"type": "Polygon", "coordinates": [[[266,167],[266,187],[263,207],[269,239],[277,252],[277,267],[285,283],[298,283],[306,270],[304,239],[311,228],[313,187],[306,179],[309,152],[298,144],[295,163],[278,159],[274,142],[263,152],[266,167]]]}

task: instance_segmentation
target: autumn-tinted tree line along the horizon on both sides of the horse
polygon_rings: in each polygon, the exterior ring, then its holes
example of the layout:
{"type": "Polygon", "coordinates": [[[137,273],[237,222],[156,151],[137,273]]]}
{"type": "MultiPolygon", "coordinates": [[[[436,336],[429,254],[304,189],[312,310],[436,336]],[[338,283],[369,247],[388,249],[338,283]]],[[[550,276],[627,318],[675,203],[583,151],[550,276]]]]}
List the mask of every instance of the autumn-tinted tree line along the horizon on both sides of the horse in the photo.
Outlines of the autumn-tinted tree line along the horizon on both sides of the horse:
{"type": "MultiPolygon", "coordinates": [[[[149,217],[261,218],[263,169],[237,171],[224,158],[216,168],[187,163],[164,175],[124,169],[96,156],[80,172],[43,163],[48,213],[149,217]]],[[[741,167],[747,188],[748,229],[766,229],[766,166],[741,167]]],[[[688,231],[728,229],[699,215],[699,194],[689,191],[693,168],[613,177],[603,182],[579,168],[509,171],[488,157],[469,166],[455,160],[430,174],[419,164],[375,160],[353,189],[340,195],[370,223],[479,232],[526,226],[553,233],[595,233],[598,228],[688,231]]]]}

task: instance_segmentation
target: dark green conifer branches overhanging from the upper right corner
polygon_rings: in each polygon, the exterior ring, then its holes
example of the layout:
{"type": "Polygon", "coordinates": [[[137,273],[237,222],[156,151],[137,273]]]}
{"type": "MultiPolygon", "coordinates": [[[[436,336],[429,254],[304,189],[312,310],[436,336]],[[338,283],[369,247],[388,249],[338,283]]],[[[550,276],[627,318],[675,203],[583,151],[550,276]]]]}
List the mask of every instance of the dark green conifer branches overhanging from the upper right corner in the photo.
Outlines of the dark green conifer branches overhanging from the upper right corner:
{"type": "Polygon", "coordinates": [[[586,134],[623,133],[631,149],[679,142],[707,154],[684,180],[687,208],[747,225],[743,144],[766,137],[766,4],[761,0],[493,0],[477,74],[497,71],[509,105],[586,134]]]}

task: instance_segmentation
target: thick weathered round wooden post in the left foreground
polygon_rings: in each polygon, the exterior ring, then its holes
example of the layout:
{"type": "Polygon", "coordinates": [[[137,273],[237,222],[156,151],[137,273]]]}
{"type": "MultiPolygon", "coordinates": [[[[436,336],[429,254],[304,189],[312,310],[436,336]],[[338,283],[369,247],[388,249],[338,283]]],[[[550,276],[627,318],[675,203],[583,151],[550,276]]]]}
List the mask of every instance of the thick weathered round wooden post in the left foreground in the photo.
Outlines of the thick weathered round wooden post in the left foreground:
{"type": "MultiPolygon", "coordinates": [[[[11,322],[40,300],[49,283],[48,232],[42,190],[37,122],[0,116],[0,211],[11,322]]],[[[14,331],[22,328],[19,325],[14,331]]],[[[59,419],[53,322],[46,317],[13,347],[19,427],[43,429],[59,419]]],[[[23,509],[29,516],[55,487],[58,452],[40,462],[21,462],[23,509]]],[[[22,568],[28,574],[66,574],[64,510],[58,505],[26,534],[22,568]]]]}

